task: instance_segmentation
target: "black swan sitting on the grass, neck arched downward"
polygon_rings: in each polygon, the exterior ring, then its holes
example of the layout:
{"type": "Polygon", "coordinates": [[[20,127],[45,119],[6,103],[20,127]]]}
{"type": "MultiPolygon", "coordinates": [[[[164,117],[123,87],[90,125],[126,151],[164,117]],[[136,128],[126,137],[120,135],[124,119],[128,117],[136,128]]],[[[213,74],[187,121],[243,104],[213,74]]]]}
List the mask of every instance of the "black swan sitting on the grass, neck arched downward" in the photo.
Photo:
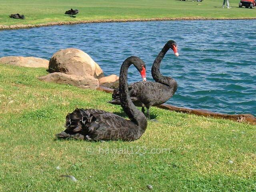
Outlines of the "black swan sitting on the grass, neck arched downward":
{"type": "Polygon", "coordinates": [[[128,94],[127,72],[131,64],[142,71],[144,62],[135,56],[124,60],[120,69],[119,89],[121,106],[131,120],[99,109],[78,109],[66,116],[66,130],[57,138],[77,138],[90,141],[125,140],[140,138],[147,128],[147,119],[128,94]]]}

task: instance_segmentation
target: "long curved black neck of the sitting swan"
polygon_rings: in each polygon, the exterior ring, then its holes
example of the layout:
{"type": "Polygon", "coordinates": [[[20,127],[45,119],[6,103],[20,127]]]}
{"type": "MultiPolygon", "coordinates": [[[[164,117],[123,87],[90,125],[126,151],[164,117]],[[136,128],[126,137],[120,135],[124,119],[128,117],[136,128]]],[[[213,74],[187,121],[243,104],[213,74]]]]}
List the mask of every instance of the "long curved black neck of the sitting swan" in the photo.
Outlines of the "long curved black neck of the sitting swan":
{"type": "Polygon", "coordinates": [[[128,82],[127,82],[127,72],[128,68],[131,64],[134,64],[136,60],[140,60],[140,58],[132,56],[127,58],[120,69],[120,76],[119,76],[119,90],[120,90],[120,101],[121,106],[124,109],[124,112],[128,115],[128,117],[137,124],[141,131],[144,132],[147,127],[147,119],[144,114],[136,108],[136,106],[132,103],[132,100],[129,96],[128,92],[128,82]]]}

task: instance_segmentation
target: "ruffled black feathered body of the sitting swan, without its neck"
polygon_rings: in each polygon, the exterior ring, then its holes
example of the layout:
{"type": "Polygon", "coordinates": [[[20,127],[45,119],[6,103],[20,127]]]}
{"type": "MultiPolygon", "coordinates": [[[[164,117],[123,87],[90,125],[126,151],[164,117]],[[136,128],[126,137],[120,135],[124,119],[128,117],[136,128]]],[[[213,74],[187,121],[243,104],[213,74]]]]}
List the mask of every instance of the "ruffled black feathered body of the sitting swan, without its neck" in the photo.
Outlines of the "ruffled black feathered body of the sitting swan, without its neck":
{"type": "Polygon", "coordinates": [[[141,135],[132,121],[98,109],[77,108],[66,116],[65,127],[64,132],[56,134],[58,138],[135,140],[141,135]]]}

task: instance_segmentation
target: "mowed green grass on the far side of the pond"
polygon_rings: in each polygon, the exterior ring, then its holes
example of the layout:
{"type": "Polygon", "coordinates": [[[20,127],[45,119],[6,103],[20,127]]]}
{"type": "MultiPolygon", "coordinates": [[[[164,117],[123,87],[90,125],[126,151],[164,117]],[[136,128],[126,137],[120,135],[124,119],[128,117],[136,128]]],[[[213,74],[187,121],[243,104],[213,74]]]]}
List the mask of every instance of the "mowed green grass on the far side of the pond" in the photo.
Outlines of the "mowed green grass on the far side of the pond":
{"type": "Polygon", "coordinates": [[[222,9],[220,0],[203,2],[179,0],[0,0],[0,24],[39,24],[60,21],[165,17],[252,18],[255,9],[238,8],[240,0],[232,0],[232,9],[222,9]],[[70,8],[78,9],[76,18],[65,16],[70,8]],[[24,14],[25,20],[9,18],[24,14]]]}

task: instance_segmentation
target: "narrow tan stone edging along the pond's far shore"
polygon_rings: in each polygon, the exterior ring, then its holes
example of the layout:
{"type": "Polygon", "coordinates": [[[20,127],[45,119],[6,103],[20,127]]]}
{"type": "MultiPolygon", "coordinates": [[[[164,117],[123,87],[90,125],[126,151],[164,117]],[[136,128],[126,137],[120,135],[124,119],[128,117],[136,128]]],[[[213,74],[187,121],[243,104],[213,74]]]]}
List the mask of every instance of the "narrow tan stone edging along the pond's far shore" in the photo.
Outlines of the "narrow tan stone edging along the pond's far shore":
{"type": "Polygon", "coordinates": [[[212,17],[178,17],[178,18],[150,18],[150,19],[97,19],[81,21],[62,21],[41,24],[20,24],[20,25],[0,25],[0,30],[26,29],[42,26],[72,25],[82,23],[107,23],[107,22],[146,22],[146,21],[172,21],[172,20],[253,20],[254,18],[212,18],[212,17]]]}

